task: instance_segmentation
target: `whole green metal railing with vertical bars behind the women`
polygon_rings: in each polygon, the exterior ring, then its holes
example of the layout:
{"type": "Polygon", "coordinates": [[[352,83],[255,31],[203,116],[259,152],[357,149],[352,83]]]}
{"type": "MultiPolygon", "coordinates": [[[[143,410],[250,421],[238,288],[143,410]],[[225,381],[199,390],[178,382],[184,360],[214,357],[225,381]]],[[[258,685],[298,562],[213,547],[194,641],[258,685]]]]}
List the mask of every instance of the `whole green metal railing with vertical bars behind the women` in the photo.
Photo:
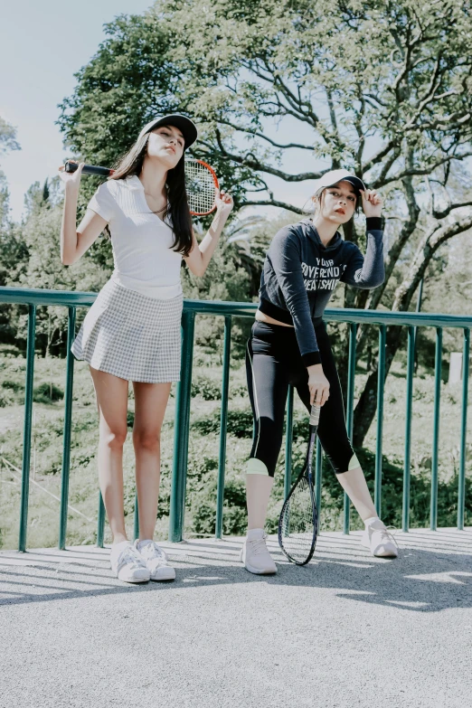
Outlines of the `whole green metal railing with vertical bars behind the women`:
{"type": "MultiPolygon", "coordinates": [[[[27,288],[0,288],[0,302],[17,303],[28,306],[28,335],[26,348],[26,382],[24,399],[24,438],[22,463],[22,489],[20,505],[20,530],[18,548],[26,550],[26,535],[28,523],[28,497],[30,484],[30,457],[32,437],[33,411],[33,375],[34,375],[34,340],[36,326],[36,308],[40,306],[68,307],[68,354],[66,363],[66,387],[64,397],[64,427],[63,427],[63,457],[61,469],[61,510],[59,520],[59,547],[66,543],[67,509],[69,500],[69,471],[71,455],[71,418],[74,357],[71,354],[71,342],[75,335],[75,319],[77,307],[90,307],[97,295],[95,293],[67,292],[57,290],[38,290],[27,288]]],[[[192,365],[194,354],[195,316],[212,315],[224,317],[224,340],[222,362],[222,408],[220,418],[220,446],[218,463],[218,484],[216,501],[216,538],[222,537],[224,477],[226,461],[226,429],[228,416],[230,353],[231,353],[231,323],[234,317],[253,317],[257,306],[253,303],[212,302],[205,300],[185,300],[182,317],[182,373],[181,381],[176,387],[175,396],[175,438],[174,460],[172,469],[172,488],[169,514],[169,539],[173,542],[182,541],[185,512],[186,470],[188,458],[188,440],[190,432],[190,407],[192,365]]],[[[465,521],[465,490],[466,490],[466,441],[467,441],[467,396],[470,355],[470,327],[472,316],[433,315],[428,313],[404,313],[377,310],[328,309],[325,319],[331,322],[343,322],[349,326],[349,353],[346,400],[346,425],[350,435],[354,422],[354,382],[356,363],[356,335],[358,326],[378,326],[379,356],[378,356],[378,390],[376,416],[376,447],[375,447],[375,479],[374,503],[378,514],[382,509],[382,427],[383,427],[383,392],[385,381],[385,345],[387,326],[405,326],[408,331],[407,342],[407,376],[406,376],[406,410],[405,410],[405,443],[403,466],[402,495],[402,530],[408,531],[410,525],[410,484],[411,484],[411,417],[412,394],[415,358],[415,330],[419,326],[436,329],[436,363],[434,385],[434,415],[432,436],[431,463],[431,493],[430,493],[430,528],[436,530],[438,525],[438,467],[439,467],[439,407],[441,382],[442,330],[444,327],[463,330],[463,372],[462,401],[460,420],[459,473],[458,473],[458,529],[464,528],[465,521]]],[[[293,426],[293,389],[288,391],[287,428],[285,448],[285,484],[287,496],[290,488],[291,449],[293,426]]],[[[318,514],[320,510],[322,488],[322,450],[317,442],[316,455],[316,503],[318,514]]],[[[345,496],[344,531],[349,533],[350,503],[345,496]]],[[[138,533],[138,508],[135,503],[134,533],[138,533]]],[[[105,526],[105,508],[99,495],[97,544],[103,545],[105,526]]]]}

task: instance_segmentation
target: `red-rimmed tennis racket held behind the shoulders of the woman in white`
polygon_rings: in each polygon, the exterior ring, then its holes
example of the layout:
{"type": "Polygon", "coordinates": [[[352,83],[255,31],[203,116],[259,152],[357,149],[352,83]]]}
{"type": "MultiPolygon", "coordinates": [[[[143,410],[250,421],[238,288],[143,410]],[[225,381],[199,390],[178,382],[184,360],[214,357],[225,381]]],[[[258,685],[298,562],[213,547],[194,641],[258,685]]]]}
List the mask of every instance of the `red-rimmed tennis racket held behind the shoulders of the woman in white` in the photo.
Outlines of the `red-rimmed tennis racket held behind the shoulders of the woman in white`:
{"type": "MultiPolygon", "coordinates": [[[[185,157],[185,188],[190,213],[194,216],[206,216],[216,209],[216,190],[220,189],[218,177],[210,165],[194,157],[185,157]]],[[[78,163],[68,161],[65,172],[75,172],[78,163]]],[[[83,165],[83,175],[101,175],[109,177],[114,170],[99,165],[83,165]]]]}

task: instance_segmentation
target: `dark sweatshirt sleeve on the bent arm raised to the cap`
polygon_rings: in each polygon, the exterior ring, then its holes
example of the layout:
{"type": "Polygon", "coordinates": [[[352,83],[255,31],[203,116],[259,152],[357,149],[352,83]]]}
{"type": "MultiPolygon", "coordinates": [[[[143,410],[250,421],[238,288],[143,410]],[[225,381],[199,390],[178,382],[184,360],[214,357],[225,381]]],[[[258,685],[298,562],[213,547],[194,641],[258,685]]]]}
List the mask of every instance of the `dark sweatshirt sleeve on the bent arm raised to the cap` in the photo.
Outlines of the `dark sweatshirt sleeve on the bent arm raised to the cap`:
{"type": "MultiPolygon", "coordinates": [[[[352,244],[354,246],[354,244],[352,244]]],[[[341,280],[355,288],[377,288],[385,279],[383,265],[383,231],[382,219],[371,216],[367,219],[367,249],[365,257],[354,246],[353,255],[349,259],[341,280]]]]}

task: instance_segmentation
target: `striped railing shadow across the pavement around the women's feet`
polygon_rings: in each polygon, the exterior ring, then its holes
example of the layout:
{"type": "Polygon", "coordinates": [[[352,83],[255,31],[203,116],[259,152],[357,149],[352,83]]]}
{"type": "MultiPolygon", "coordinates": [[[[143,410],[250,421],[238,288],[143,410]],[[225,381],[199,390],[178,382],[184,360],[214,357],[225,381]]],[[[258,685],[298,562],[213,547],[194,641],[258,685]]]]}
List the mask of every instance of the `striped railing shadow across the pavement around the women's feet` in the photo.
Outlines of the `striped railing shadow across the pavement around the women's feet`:
{"type": "MultiPolygon", "coordinates": [[[[387,561],[374,559],[361,551],[354,534],[348,537],[323,534],[314,560],[301,568],[288,563],[271,539],[269,547],[278,563],[276,576],[254,576],[245,571],[239,562],[239,539],[216,543],[164,543],[177,569],[177,580],[140,585],[126,585],[113,577],[106,549],[2,552],[0,605],[262,582],[269,586],[313,590],[309,600],[314,602],[316,590],[333,590],[334,598],[409,612],[472,607],[470,533],[448,532],[434,536],[418,532],[401,534],[401,537],[404,543],[401,543],[400,558],[387,561]]],[[[306,593],[304,598],[307,599],[306,593]]]]}

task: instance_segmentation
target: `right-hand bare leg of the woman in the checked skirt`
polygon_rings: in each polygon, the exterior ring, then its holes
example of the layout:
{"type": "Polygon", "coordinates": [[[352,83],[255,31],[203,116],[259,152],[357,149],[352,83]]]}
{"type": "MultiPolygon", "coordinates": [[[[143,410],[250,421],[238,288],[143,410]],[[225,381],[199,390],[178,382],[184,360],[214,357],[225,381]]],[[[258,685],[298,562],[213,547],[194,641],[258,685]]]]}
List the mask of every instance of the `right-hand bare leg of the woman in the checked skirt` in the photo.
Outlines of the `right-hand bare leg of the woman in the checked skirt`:
{"type": "Polygon", "coordinates": [[[134,382],[133,387],[133,445],[136,455],[139,538],[144,541],[153,538],[156,528],[161,476],[161,428],[171,384],[134,382]]]}

